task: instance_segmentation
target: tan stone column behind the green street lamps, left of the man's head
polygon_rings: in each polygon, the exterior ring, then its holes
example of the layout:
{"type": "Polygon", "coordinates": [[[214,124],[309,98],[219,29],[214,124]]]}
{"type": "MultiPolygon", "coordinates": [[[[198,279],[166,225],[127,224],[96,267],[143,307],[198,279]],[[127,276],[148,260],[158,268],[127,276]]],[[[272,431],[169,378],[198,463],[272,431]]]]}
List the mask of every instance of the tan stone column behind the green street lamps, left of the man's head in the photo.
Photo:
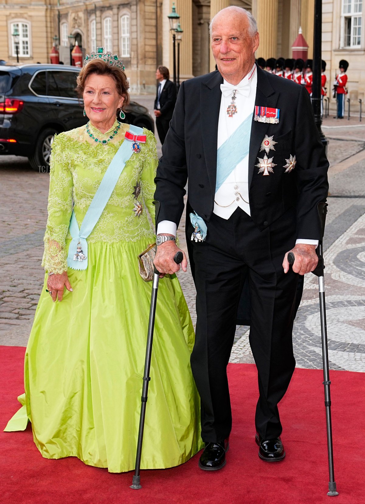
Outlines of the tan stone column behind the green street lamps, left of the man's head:
{"type": "MultiPolygon", "coordinates": [[[[192,0],[175,0],[176,12],[179,14],[180,26],[184,30],[180,42],[180,81],[193,77],[193,21],[192,0]]],[[[172,7],[172,2],[171,2],[172,7]]],[[[172,36],[170,35],[172,38],[172,36]]],[[[172,45],[172,42],[170,42],[172,45]]],[[[170,63],[172,75],[172,58],[170,63]]],[[[177,41],[176,41],[176,73],[177,73],[177,41]]]]}

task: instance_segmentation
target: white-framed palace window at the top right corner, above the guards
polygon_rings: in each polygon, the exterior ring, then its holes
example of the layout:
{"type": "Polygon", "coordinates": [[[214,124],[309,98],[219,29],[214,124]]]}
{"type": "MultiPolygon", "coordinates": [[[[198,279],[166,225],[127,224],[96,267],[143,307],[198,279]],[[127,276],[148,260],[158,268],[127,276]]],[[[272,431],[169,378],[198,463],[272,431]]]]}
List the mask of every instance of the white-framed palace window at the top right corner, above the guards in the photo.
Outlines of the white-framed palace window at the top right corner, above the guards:
{"type": "Polygon", "coordinates": [[[362,0],[343,0],[341,16],[341,47],[360,47],[362,0]]]}

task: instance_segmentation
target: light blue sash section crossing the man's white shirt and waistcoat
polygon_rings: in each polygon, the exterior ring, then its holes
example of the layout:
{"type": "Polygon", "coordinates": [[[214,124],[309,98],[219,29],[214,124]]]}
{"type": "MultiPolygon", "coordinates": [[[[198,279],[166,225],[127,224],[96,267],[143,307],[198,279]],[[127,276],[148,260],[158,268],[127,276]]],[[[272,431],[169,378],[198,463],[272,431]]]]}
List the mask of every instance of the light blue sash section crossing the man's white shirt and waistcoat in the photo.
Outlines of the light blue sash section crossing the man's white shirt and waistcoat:
{"type": "Polygon", "coordinates": [[[216,192],[237,164],[247,156],[250,148],[251,123],[252,114],[239,125],[237,130],[218,149],[216,192]]]}

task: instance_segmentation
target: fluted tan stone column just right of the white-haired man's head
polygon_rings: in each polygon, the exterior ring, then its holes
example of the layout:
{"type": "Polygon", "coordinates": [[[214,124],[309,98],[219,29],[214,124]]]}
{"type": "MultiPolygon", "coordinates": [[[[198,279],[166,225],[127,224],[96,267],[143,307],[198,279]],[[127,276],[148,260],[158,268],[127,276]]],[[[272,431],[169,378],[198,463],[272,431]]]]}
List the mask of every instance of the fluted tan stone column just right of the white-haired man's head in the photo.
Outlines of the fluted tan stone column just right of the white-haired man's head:
{"type": "Polygon", "coordinates": [[[278,0],[256,0],[256,21],[260,45],[256,58],[277,58],[278,43],[278,0]]]}

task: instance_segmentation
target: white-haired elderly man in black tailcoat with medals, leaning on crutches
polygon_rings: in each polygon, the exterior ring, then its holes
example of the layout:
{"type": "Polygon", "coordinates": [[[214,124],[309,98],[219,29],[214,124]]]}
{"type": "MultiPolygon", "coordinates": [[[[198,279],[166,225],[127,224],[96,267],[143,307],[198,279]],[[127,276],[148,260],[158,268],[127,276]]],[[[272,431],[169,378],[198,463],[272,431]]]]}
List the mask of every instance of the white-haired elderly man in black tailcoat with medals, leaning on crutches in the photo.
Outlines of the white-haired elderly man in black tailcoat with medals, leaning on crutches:
{"type": "MultiPolygon", "coordinates": [[[[155,265],[162,274],[179,270],[174,237],[188,180],[187,240],[197,289],[191,364],[201,397],[204,470],[226,463],[232,427],[226,367],[246,280],[258,371],[258,455],[285,457],[278,403],[295,368],[298,279],[317,265],[317,205],[328,192],[328,161],[308,92],[256,66],[258,44],[249,12],[228,7],[214,17],[218,71],[181,84],[155,178],[155,265]]],[[[184,256],[184,271],[187,264],[184,256]]]]}

